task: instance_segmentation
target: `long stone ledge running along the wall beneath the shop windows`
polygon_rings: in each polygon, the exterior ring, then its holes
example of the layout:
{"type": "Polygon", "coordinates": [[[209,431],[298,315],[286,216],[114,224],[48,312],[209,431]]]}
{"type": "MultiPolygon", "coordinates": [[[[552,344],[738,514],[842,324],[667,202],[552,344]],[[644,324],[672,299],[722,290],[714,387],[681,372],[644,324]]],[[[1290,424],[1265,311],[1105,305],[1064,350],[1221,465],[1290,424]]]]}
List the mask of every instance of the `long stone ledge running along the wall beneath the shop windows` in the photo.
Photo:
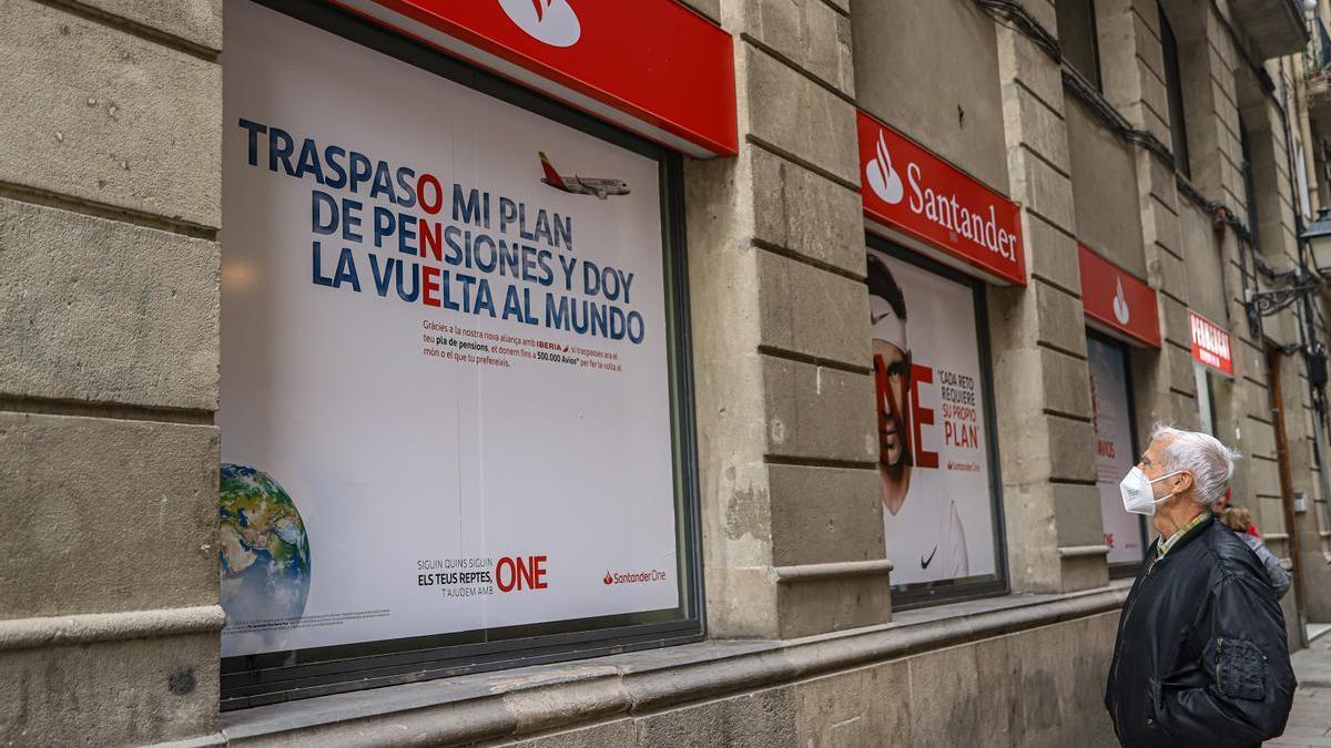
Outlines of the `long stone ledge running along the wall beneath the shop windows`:
{"type": "Polygon", "coordinates": [[[1129,586],[1006,595],[908,611],[897,620],[787,642],[709,640],[531,668],[337,693],[224,712],[228,745],[514,740],[779,687],[1118,611],[1129,586]]]}

